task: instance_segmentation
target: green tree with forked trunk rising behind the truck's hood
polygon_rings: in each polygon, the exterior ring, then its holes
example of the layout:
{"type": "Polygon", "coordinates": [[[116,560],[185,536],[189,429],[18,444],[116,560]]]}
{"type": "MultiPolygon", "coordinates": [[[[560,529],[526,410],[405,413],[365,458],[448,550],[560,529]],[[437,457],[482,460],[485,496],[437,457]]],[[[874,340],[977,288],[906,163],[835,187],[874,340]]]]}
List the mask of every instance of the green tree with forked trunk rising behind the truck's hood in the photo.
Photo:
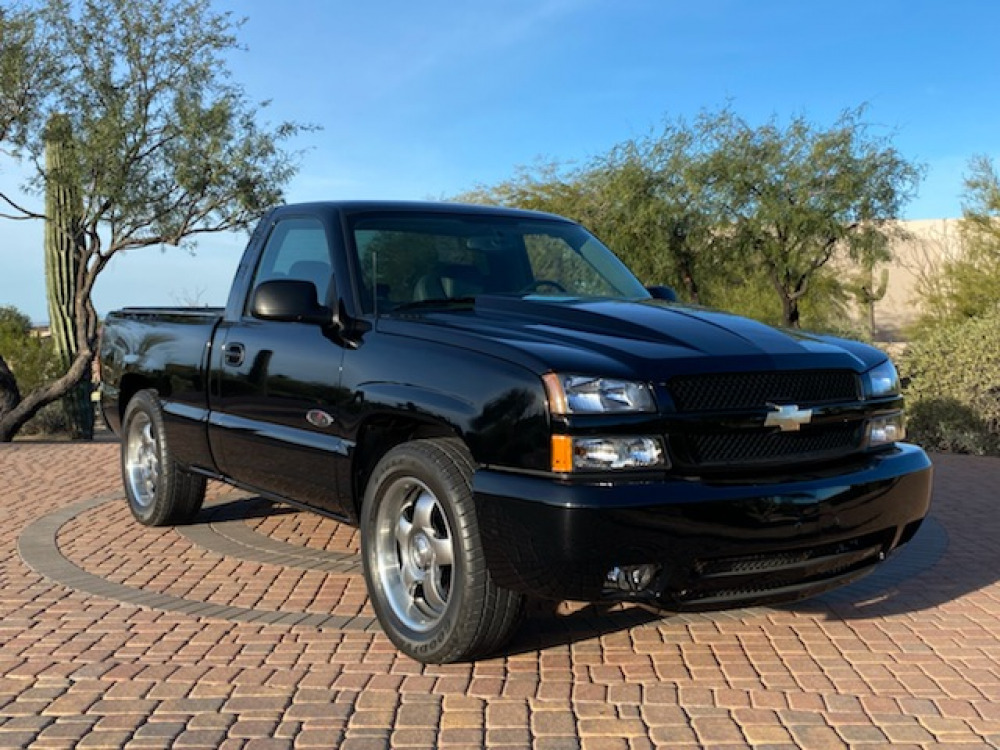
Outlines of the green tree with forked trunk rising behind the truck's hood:
{"type": "Polygon", "coordinates": [[[786,326],[799,327],[811,282],[836,258],[862,268],[890,258],[896,220],[919,182],[921,170],[872,135],[862,113],[822,129],[801,116],[752,127],[725,110],[705,126],[723,236],[734,256],[764,271],[786,326]]]}

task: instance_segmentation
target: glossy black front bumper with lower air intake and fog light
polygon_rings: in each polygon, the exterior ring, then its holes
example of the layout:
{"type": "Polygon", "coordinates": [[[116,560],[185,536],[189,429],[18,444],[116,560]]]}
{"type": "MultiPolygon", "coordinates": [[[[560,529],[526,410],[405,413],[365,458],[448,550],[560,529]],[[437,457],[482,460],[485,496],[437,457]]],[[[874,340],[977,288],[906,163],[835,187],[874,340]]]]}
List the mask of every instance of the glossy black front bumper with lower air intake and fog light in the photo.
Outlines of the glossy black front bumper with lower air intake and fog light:
{"type": "Polygon", "coordinates": [[[931,474],[922,450],[899,444],[794,480],[580,483],[480,470],[473,490],[499,585],[686,610],[790,601],[864,575],[916,533],[931,474]],[[623,585],[638,566],[652,575],[623,585]]]}

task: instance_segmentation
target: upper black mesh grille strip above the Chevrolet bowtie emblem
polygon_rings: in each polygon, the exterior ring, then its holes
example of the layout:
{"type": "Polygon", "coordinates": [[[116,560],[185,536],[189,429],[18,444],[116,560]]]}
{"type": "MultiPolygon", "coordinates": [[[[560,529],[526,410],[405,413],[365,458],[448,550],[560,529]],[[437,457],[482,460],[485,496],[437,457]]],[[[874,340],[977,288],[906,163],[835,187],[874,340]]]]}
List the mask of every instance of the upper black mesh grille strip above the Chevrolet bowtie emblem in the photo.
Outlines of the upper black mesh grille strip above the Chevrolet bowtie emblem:
{"type": "Polygon", "coordinates": [[[857,401],[858,376],[850,370],[719,373],[681,376],[667,384],[679,412],[758,409],[773,404],[857,401]]]}

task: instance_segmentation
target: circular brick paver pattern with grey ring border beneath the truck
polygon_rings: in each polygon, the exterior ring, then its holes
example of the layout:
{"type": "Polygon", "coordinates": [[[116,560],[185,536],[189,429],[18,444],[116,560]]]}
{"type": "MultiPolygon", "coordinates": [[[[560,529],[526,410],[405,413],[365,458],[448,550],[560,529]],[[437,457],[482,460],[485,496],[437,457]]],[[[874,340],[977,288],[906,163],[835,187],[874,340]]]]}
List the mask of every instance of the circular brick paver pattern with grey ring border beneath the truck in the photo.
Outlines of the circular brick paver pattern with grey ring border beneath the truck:
{"type": "MultiPolygon", "coordinates": [[[[947,548],[947,534],[934,519],[927,520],[918,536],[918,543],[904,547],[874,573],[812,599],[807,608],[881,601],[894,583],[930,568],[947,548]]],[[[194,523],[170,530],[132,522],[120,494],[100,496],[36,520],[22,533],[19,547],[28,565],[52,580],[141,607],[324,630],[376,627],[356,530],[259,497],[208,505],[194,523]],[[113,543],[106,538],[109,525],[120,529],[113,543]]],[[[632,610],[628,618],[635,624],[657,619],[640,608],[616,609],[632,610]]],[[[752,619],[771,610],[664,617],[715,622],[752,619]]],[[[539,626],[544,629],[544,623],[539,626]]]]}

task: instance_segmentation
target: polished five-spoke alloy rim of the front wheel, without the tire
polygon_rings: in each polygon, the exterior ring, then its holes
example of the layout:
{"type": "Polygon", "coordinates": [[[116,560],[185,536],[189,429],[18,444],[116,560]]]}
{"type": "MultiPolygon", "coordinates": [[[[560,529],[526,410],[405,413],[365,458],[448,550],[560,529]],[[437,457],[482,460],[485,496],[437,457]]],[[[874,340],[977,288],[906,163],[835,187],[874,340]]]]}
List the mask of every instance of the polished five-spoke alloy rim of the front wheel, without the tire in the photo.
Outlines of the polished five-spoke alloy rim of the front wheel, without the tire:
{"type": "Polygon", "coordinates": [[[444,615],[451,595],[454,538],[434,493],[413,477],[397,479],[378,508],[378,576],[393,613],[426,632],[444,615]]]}

